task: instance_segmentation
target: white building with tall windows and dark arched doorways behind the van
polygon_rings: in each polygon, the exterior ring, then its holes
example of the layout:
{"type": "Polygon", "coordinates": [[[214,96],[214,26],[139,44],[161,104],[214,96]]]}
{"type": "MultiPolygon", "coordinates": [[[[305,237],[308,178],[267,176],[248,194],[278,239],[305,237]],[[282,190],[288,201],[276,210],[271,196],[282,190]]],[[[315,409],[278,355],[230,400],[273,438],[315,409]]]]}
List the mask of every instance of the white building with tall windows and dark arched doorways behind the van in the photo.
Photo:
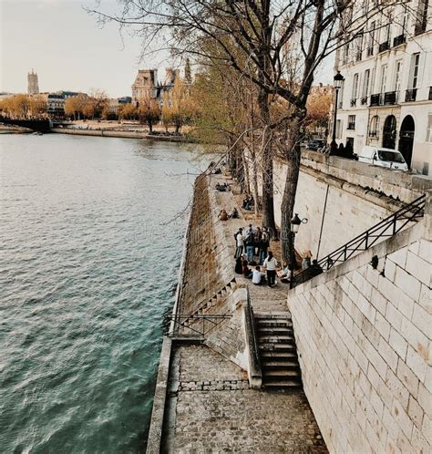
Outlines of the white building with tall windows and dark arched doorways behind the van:
{"type": "Polygon", "coordinates": [[[365,36],[337,52],[334,66],[345,81],[339,90],[336,142],[351,142],[355,153],[365,145],[399,150],[413,171],[432,175],[432,22],[427,21],[427,4],[389,5],[369,19],[365,36]]]}

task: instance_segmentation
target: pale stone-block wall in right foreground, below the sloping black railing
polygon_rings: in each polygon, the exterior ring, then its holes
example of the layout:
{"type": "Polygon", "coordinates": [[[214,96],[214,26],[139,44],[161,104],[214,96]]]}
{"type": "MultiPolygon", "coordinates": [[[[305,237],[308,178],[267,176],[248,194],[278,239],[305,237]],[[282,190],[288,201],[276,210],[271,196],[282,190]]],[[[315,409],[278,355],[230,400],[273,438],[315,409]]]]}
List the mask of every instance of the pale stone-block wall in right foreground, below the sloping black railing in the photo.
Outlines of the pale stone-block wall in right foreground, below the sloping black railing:
{"type": "Polygon", "coordinates": [[[288,294],[304,391],[330,452],[430,452],[431,195],[421,222],[288,294]]]}

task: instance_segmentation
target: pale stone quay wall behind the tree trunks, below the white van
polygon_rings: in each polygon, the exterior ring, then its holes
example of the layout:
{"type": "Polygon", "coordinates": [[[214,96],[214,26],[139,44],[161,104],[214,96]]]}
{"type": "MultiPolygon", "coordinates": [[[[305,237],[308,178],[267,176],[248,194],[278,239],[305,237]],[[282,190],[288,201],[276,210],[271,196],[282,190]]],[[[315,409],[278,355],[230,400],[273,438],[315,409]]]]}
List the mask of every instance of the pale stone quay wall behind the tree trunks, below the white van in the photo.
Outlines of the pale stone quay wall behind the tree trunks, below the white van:
{"type": "MultiPolygon", "coordinates": [[[[261,167],[248,150],[244,158],[246,186],[253,194],[253,167],[258,171],[261,167]]],[[[286,170],[286,161],[273,160],[274,213],[279,226],[286,170]]],[[[432,179],[424,176],[302,150],[294,209],[308,223],[296,236],[296,249],[322,258],[431,188],[432,179]]],[[[260,178],[258,192],[261,196],[260,178]]]]}

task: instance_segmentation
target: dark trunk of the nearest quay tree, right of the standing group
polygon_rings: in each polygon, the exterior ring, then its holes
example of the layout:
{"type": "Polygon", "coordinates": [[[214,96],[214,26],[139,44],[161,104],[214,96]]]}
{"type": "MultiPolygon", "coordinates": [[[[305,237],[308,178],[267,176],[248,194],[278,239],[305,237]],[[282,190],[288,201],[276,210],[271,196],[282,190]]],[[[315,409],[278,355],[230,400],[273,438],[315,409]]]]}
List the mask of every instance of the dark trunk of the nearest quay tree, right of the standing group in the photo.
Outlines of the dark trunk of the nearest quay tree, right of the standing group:
{"type": "MultiPolygon", "coordinates": [[[[291,220],[294,214],[295,194],[300,172],[302,140],[301,125],[303,122],[303,113],[290,123],[289,139],[285,150],[285,159],[287,160],[288,169],[286,173],[285,188],[283,191],[283,200],[281,205],[281,239],[282,239],[282,258],[283,261],[291,263],[293,257],[293,235],[291,234],[291,220]]],[[[302,213],[300,213],[301,217],[302,213]]],[[[291,263],[293,266],[293,263],[291,263]]],[[[295,265],[295,264],[294,264],[295,265]]]]}

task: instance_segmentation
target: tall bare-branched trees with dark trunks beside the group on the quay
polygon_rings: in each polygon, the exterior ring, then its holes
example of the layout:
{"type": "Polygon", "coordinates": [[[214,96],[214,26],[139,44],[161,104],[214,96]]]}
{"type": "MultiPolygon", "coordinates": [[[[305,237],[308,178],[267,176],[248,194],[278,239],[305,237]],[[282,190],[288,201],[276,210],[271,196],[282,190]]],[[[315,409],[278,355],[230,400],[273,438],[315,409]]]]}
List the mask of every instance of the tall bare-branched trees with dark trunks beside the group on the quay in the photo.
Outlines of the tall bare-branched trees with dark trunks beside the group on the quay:
{"type": "Polygon", "coordinates": [[[268,226],[274,223],[274,153],[288,164],[281,229],[283,258],[289,259],[300,143],[316,70],[335,50],[386,26],[376,22],[373,30],[370,25],[366,27],[371,17],[397,3],[402,1],[389,0],[385,5],[371,2],[366,8],[355,9],[355,0],[121,0],[123,7],[118,15],[93,13],[122,26],[139,26],[146,47],[155,42],[155,36],[163,37],[177,55],[210,60],[234,70],[239,85],[245,80],[253,84],[256,117],[261,123],[262,214],[268,226]],[[279,118],[271,113],[274,98],[283,99],[287,107],[279,118]]]}

